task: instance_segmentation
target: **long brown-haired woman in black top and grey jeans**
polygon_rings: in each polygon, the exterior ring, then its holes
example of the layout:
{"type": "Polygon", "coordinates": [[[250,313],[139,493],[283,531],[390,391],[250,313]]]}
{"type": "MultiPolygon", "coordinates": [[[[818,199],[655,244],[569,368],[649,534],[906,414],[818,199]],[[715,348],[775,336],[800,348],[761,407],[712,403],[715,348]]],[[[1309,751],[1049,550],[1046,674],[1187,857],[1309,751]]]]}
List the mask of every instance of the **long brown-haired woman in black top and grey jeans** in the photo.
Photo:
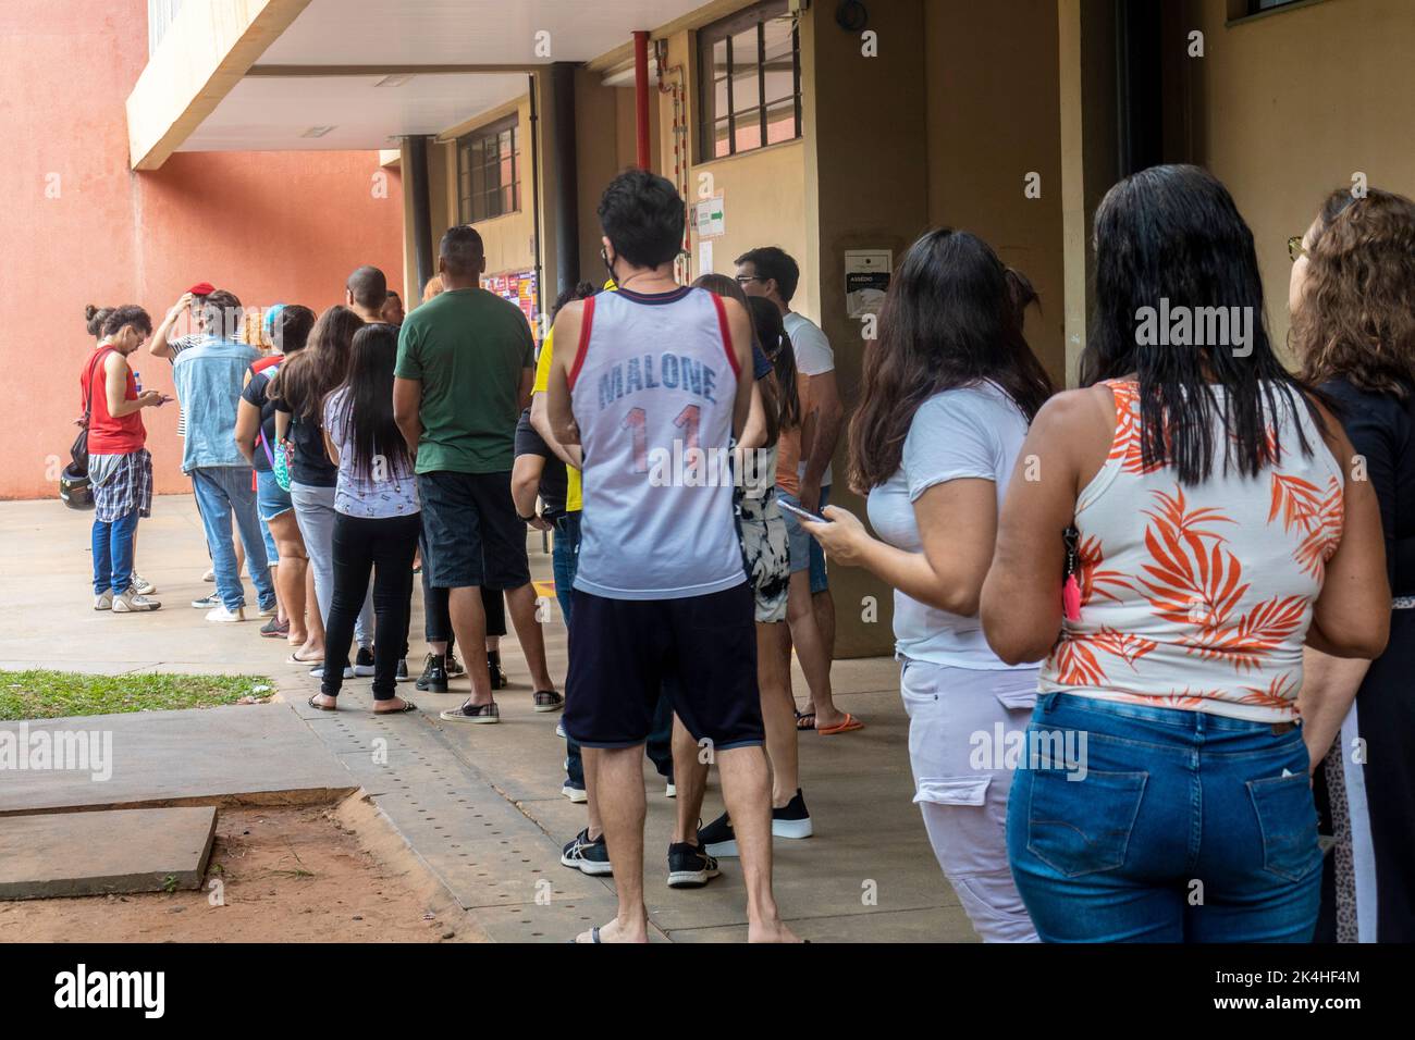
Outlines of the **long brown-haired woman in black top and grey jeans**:
{"type": "MultiPolygon", "coordinates": [[[[314,599],[320,617],[308,621],[310,638],[289,659],[291,665],[321,665],[325,628],[334,599],[334,521],[338,466],[324,450],[324,399],[342,382],[350,368],[354,335],[364,318],[348,307],[325,310],[310,331],[306,348],[286,362],[266,392],[275,400],[275,430],[280,450],[290,451],[290,501],[314,570],[314,599]],[[286,449],[289,446],[289,449],[286,449]],[[318,624],[318,628],[316,625],[318,624]]],[[[374,674],[374,600],[364,603],[354,627],[358,657],[344,678],[374,674]]],[[[321,674],[314,668],[311,675],[321,674]]]]}

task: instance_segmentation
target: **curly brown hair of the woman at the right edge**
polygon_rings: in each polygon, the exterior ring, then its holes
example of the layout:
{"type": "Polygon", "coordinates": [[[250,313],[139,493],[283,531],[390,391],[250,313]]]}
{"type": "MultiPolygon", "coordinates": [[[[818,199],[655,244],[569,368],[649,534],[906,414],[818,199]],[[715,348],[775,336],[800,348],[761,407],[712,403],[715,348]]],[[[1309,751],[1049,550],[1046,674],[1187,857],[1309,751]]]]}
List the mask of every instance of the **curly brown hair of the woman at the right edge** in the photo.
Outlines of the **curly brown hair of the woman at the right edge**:
{"type": "Polygon", "coordinates": [[[1370,188],[1327,195],[1292,316],[1302,379],[1346,379],[1405,400],[1415,391],[1415,202],[1370,188]]]}

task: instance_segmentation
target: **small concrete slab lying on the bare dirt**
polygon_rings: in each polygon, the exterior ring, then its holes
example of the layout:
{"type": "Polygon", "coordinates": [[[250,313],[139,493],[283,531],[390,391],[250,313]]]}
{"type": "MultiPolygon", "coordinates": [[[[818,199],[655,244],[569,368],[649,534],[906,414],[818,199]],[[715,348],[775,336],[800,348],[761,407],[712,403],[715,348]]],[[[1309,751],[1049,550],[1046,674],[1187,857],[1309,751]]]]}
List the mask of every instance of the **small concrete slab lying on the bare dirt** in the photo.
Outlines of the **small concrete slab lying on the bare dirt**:
{"type": "Polygon", "coordinates": [[[10,816],[0,826],[0,899],[200,889],[216,809],[10,816]]]}

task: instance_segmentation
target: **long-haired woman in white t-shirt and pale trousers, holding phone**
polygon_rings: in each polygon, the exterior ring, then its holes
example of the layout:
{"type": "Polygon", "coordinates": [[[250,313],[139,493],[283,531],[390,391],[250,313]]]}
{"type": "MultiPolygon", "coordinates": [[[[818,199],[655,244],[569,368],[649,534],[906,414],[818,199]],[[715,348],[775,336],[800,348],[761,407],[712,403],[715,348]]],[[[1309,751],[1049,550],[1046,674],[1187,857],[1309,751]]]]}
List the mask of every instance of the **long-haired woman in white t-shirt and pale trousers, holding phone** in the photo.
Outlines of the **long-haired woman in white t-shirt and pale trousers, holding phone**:
{"type": "Polygon", "coordinates": [[[825,509],[831,524],[805,525],[832,560],[896,590],[914,801],[974,928],[993,942],[1036,941],[1005,828],[1009,751],[1036,702],[1037,669],[999,661],[978,620],[1007,480],[1051,393],[1022,334],[1034,299],[968,232],[916,242],[866,348],[850,423],[850,487],[869,495],[880,538],[838,507],[825,509]]]}

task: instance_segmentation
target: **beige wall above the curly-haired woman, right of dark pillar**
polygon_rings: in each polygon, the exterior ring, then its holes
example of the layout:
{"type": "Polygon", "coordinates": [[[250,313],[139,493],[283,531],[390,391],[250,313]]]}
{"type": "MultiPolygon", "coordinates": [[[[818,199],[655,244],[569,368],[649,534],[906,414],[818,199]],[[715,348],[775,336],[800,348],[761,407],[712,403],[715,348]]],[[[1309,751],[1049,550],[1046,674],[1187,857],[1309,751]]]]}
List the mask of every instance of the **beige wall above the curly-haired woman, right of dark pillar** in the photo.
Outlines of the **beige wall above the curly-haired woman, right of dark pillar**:
{"type": "Polygon", "coordinates": [[[1327,0],[1225,27],[1227,0],[1189,0],[1193,161],[1228,185],[1258,245],[1272,340],[1288,334],[1288,236],[1363,171],[1415,197],[1415,3],[1327,0]]]}

